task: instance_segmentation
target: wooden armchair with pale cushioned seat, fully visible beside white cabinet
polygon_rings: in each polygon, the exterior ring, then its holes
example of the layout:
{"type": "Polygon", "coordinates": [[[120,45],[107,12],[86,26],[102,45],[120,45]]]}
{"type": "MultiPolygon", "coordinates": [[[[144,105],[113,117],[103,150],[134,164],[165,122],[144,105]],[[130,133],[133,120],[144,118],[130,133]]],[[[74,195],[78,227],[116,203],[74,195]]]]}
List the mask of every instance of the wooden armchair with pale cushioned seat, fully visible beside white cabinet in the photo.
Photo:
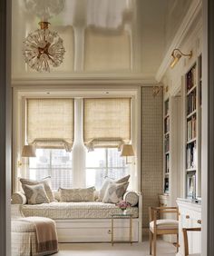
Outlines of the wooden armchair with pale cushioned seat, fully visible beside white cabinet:
{"type": "Polygon", "coordinates": [[[179,244],[179,209],[178,207],[150,207],[150,254],[153,247],[153,255],[156,256],[156,240],[158,235],[176,234],[177,251],[179,244]],[[161,213],[175,213],[176,220],[159,219],[161,213]],[[153,245],[153,246],[152,246],[153,245]]]}

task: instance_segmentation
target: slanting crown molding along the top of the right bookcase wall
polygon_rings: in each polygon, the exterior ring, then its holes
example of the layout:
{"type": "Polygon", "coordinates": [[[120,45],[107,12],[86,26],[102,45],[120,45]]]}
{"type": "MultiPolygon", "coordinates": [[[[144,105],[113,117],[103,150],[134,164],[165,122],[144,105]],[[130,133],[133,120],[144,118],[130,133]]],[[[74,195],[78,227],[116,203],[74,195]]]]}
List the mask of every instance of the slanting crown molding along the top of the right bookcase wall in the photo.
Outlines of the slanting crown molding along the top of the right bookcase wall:
{"type": "Polygon", "coordinates": [[[196,17],[199,15],[199,11],[201,9],[202,9],[202,1],[201,0],[192,1],[189,11],[183,18],[180,28],[177,31],[177,33],[175,34],[175,36],[170,44],[170,47],[169,47],[168,51],[166,52],[166,54],[162,60],[162,63],[160,64],[160,68],[159,68],[157,74],[155,75],[156,81],[160,82],[163,75],[166,73],[167,69],[170,66],[171,53],[172,53],[173,49],[180,47],[180,44],[185,39],[185,36],[189,33],[190,26],[193,24],[196,17]]]}

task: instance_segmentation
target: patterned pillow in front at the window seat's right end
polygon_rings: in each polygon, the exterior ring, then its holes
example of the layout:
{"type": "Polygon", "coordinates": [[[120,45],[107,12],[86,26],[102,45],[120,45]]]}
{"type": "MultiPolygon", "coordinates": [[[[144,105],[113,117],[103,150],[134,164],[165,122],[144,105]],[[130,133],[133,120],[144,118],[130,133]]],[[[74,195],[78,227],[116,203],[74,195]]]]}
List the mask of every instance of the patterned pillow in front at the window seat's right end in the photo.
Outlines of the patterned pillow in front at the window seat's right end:
{"type": "Polygon", "coordinates": [[[129,182],[109,183],[102,202],[117,203],[122,201],[122,196],[126,192],[129,182]]]}

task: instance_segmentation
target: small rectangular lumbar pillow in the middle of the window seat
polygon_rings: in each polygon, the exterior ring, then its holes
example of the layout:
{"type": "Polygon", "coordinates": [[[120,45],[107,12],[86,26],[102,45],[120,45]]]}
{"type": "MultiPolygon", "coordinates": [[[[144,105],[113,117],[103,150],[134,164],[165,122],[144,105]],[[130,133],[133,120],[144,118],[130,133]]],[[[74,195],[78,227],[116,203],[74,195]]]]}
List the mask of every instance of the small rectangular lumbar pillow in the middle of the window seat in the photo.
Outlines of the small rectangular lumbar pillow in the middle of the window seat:
{"type": "Polygon", "coordinates": [[[60,188],[61,202],[93,202],[94,187],[87,189],[63,189],[60,188]]]}

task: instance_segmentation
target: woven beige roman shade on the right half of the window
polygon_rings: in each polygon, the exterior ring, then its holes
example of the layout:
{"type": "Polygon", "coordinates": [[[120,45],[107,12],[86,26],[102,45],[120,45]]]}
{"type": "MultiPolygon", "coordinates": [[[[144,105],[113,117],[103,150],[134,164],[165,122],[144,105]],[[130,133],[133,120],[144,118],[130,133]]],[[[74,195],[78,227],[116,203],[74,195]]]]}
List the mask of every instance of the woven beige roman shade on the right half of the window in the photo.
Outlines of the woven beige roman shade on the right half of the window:
{"type": "Polygon", "coordinates": [[[131,98],[83,100],[83,139],[89,151],[131,140],[131,98]]]}

